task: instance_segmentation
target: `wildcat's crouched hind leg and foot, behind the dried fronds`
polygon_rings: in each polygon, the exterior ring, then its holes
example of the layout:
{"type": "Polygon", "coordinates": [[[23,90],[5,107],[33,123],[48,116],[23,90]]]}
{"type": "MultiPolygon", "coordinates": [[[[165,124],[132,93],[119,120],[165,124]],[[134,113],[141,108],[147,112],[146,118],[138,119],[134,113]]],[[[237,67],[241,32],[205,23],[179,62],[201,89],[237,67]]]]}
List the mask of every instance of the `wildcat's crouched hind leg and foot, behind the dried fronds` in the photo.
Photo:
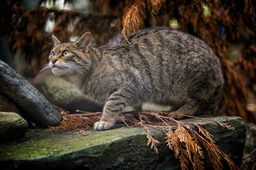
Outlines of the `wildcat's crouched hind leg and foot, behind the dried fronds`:
{"type": "Polygon", "coordinates": [[[176,118],[176,119],[182,119],[184,116],[183,115],[194,115],[199,109],[199,102],[196,100],[192,100],[188,98],[185,100],[184,105],[180,107],[177,111],[172,111],[170,113],[175,113],[179,115],[171,115],[171,117],[176,118]]]}

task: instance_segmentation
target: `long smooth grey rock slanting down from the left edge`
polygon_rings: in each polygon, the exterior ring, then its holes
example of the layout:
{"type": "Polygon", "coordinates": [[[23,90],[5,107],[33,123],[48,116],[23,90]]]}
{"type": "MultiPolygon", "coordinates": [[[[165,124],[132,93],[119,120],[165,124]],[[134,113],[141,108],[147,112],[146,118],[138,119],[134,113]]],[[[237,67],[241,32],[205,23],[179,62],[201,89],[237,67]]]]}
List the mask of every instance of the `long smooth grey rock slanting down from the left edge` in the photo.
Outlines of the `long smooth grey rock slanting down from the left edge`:
{"type": "Polygon", "coordinates": [[[59,125],[62,121],[58,111],[34,86],[0,60],[0,94],[8,96],[18,107],[22,116],[37,125],[59,125]]]}

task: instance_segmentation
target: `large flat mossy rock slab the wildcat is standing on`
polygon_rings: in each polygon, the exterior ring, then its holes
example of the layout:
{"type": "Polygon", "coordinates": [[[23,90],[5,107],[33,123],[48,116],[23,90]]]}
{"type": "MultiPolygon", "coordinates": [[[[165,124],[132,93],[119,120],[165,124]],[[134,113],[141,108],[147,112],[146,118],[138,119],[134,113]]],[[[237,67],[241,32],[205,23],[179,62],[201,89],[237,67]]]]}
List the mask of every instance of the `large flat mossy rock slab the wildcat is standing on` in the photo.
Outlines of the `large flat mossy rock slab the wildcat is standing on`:
{"type": "MultiPolygon", "coordinates": [[[[220,127],[213,121],[204,126],[214,137],[216,145],[240,166],[244,149],[246,127],[240,117],[208,117],[228,123],[235,130],[220,127]]],[[[192,123],[199,119],[185,119],[192,123]]],[[[193,127],[195,130],[196,128],[193,127]]],[[[165,133],[152,129],[160,141],[158,153],[147,147],[147,133],[143,128],[122,128],[109,131],[90,131],[89,135],[39,131],[26,133],[23,143],[0,146],[0,164],[4,169],[170,169],[180,170],[180,163],[166,146],[165,133]],[[33,139],[33,142],[30,142],[33,139]],[[9,154],[6,154],[9,153],[9,154]]],[[[204,150],[204,166],[212,164],[204,150]]],[[[230,169],[222,159],[223,169],[230,169]]]]}

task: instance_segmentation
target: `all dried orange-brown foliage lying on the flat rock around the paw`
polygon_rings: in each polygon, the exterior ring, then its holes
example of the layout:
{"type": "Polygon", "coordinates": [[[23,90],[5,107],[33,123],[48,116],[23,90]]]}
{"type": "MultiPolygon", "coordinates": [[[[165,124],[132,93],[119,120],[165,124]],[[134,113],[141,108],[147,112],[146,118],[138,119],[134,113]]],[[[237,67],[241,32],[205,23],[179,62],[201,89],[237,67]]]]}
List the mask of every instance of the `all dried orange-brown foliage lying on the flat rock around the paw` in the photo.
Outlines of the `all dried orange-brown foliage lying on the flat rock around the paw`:
{"type": "MultiPolygon", "coordinates": [[[[58,127],[51,127],[51,130],[66,130],[66,131],[79,131],[83,135],[87,135],[84,129],[92,129],[93,124],[100,119],[102,112],[85,113],[85,114],[68,114],[67,111],[59,109],[62,114],[63,121],[58,127]]],[[[148,143],[147,145],[158,152],[157,144],[159,141],[154,139],[151,135],[150,129],[157,129],[166,133],[166,145],[169,149],[174,151],[174,156],[179,159],[182,170],[188,169],[192,165],[194,170],[204,169],[204,152],[203,147],[206,149],[212,165],[215,170],[221,170],[223,157],[230,165],[231,170],[238,170],[239,168],[234,162],[218,147],[212,140],[212,135],[206,131],[203,126],[206,123],[191,123],[186,121],[177,121],[170,117],[174,113],[166,112],[153,112],[153,111],[129,111],[123,112],[119,116],[119,123],[115,125],[118,127],[144,127],[147,132],[148,143]],[[196,131],[196,128],[198,131],[196,131]]],[[[193,117],[193,116],[188,116],[193,117]]],[[[194,117],[202,119],[203,121],[210,120],[203,117],[194,117]]],[[[214,121],[214,120],[210,120],[214,121]]],[[[233,127],[226,123],[218,123],[221,127],[234,130],[233,127]]]]}

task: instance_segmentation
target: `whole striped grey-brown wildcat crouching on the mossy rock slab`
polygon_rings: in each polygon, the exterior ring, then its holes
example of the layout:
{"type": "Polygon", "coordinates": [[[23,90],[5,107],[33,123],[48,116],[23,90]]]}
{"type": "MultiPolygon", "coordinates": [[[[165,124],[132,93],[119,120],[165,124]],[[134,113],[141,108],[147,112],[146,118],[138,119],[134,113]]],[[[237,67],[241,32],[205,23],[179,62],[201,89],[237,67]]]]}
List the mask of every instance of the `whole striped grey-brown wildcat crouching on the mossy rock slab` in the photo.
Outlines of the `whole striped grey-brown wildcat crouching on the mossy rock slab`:
{"type": "Polygon", "coordinates": [[[96,130],[112,128],[124,107],[142,102],[179,106],[174,113],[180,115],[173,115],[178,119],[218,109],[224,83],[220,62],[192,35],[152,27],[128,37],[130,44],[93,48],[90,32],[76,42],[61,43],[54,35],[52,41],[52,72],[104,104],[96,130]]]}

